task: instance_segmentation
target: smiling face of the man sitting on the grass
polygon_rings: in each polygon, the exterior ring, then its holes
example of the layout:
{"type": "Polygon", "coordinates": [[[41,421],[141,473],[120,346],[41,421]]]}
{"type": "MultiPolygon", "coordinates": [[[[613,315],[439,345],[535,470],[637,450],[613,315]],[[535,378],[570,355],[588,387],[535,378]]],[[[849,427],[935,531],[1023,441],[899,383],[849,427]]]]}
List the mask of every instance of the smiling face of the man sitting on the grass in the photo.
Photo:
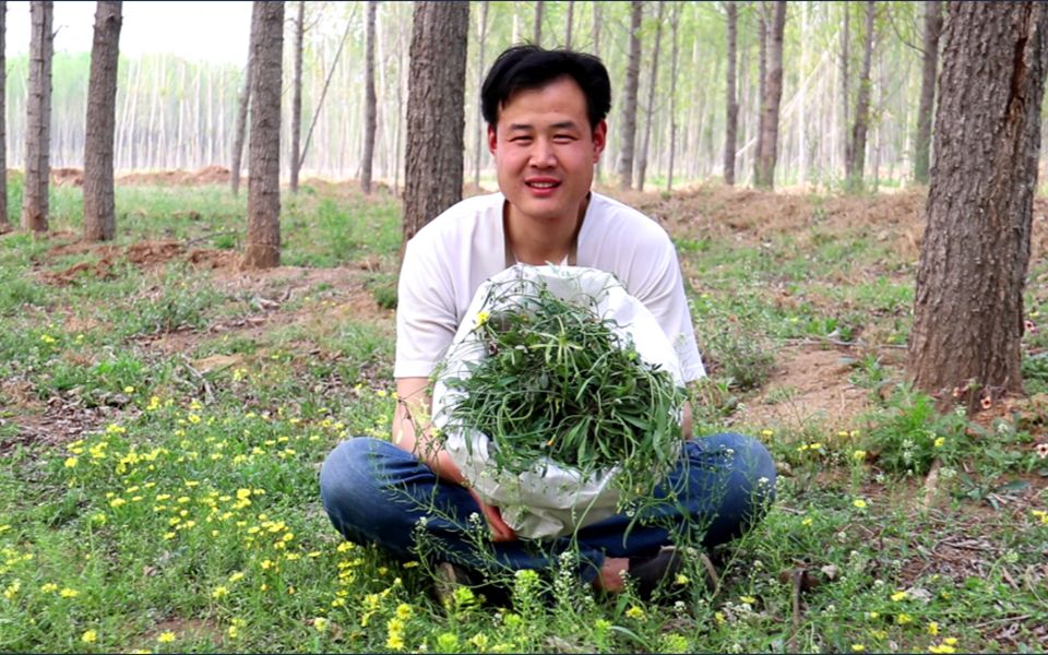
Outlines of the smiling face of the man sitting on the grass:
{"type": "MultiPolygon", "coordinates": [[[[607,123],[591,129],[586,97],[571,78],[513,95],[488,126],[499,189],[525,219],[574,221],[593,183],[607,123]]],[[[512,215],[512,214],[511,214],[512,215]]]]}

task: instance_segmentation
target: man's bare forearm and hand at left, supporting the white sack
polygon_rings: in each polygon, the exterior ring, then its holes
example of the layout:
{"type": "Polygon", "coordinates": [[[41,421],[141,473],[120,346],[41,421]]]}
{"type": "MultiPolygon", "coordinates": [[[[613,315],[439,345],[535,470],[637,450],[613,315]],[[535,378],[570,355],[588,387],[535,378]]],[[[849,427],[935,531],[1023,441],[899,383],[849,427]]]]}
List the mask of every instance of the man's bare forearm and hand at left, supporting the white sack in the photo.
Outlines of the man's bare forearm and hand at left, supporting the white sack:
{"type": "MultiPolygon", "coordinates": [[[[396,412],[393,415],[393,444],[419,458],[420,462],[433,469],[442,480],[461,485],[468,489],[468,481],[462,475],[458,466],[451,456],[432,439],[430,418],[432,402],[427,393],[428,378],[397,378],[396,379],[396,412]]],[[[516,538],[498,508],[489,505],[468,489],[480,510],[484,512],[488,525],[491,526],[491,539],[495,541],[512,541],[516,538]]]]}

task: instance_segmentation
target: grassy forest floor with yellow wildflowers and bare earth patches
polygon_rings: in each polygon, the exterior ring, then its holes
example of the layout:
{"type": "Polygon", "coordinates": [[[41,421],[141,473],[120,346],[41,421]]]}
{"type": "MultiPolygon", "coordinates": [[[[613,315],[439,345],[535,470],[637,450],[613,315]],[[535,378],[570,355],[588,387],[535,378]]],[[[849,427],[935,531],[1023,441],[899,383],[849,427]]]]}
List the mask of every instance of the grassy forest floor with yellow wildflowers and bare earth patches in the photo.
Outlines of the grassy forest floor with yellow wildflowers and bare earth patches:
{"type": "Polygon", "coordinates": [[[525,575],[491,608],[442,607],[318,499],[341,439],[389,431],[392,198],[307,187],[286,265],[248,274],[223,188],[121,187],[100,247],[52,192],[48,239],[0,237],[0,650],[1045,651],[1048,337],[1031,397],[974,419],[905,385],[918,193],[627,198],[678,245],[699,422],[767,443],[778,502],[677,605],[525,575]]]}

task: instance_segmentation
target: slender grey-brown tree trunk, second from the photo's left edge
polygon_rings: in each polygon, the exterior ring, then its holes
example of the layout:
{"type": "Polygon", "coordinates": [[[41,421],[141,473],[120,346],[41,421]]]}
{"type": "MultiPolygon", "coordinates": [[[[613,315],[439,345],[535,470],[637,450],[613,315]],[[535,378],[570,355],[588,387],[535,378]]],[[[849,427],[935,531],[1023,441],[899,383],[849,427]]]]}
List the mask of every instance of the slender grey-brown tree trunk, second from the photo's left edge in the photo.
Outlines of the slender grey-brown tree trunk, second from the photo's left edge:
{"type": "Polygon", "coordinates": [[[55,33],[53,3],[29,3],[29,81],[25,103],[25,178],[22,191],[22,227],[36,234],[47,231],[48,182],[51,147],[51,53],[55,33]]]}

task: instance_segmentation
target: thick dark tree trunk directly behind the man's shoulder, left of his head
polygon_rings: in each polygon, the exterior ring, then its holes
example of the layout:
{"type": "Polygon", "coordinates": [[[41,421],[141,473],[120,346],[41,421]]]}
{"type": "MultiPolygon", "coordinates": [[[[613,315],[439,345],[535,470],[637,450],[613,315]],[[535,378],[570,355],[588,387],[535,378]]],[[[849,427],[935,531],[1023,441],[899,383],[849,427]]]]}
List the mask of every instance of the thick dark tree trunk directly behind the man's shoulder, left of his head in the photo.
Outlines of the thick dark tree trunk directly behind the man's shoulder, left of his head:
{"type": "Polygon", "coordinates": [[[415,4],[402,254],[424,225],[462,199],[468,32],[468,3],[415,4]]]}

